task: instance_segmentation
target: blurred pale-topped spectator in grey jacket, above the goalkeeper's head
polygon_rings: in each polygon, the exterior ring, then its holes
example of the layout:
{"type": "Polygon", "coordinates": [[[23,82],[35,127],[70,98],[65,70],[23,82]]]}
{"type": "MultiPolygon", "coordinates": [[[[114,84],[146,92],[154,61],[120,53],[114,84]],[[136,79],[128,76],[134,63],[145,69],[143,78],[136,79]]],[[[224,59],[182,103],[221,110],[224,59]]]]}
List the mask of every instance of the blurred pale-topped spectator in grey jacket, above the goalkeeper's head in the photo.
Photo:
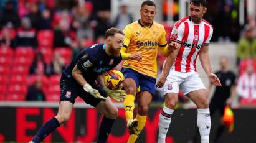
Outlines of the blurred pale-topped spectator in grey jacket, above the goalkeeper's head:
{"type": "Polygon", "coordinates": [[[125,29],[125,26],[133,22],[133,16],[128,12],[127,9],[128,3],[123,0],[120,2],[120,12],[116,16],[116,19],[113,23],[114,27],[117,27],[121,30],[125,29]]]}

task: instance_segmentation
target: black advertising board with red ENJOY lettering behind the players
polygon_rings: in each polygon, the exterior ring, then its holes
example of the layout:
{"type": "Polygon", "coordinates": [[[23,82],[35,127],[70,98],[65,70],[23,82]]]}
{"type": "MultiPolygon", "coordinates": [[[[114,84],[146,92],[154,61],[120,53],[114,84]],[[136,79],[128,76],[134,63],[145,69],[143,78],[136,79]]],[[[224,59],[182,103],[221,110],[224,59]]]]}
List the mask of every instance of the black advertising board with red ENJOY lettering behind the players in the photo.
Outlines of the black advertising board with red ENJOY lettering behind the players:
{"type": "MultiPolygon", "coordinates": [[[[0,102],[0,142],[27,142],[42,124],[55,116],[59,103],[44,102],[0,102]]],[[[108,142],[126,142],[125,112],[122,104],[116,104],[119,109],[118,119],[113,126],[108,142]]],[[[160,106],[151,106],[145,130],[138,142],[153,143],[158,137],[158,116],[160,106]]],[[[177,109],[172,118],[167,142],[187,142],[196,131],[196,109],[177,109]]],[[[255,142],[256,114],[254,108],[234,109],[235,129],[231,134],[225,133],[221,142],[255,142]]],[[[102,119],[95,108],[87,104],[75,104],[70,120],[62,127],[45,138],[45,142],[95,142],[98,127],[102,119]]],[[[214,137],[219,117],[212,119],[211,139],[214,137]]]]}

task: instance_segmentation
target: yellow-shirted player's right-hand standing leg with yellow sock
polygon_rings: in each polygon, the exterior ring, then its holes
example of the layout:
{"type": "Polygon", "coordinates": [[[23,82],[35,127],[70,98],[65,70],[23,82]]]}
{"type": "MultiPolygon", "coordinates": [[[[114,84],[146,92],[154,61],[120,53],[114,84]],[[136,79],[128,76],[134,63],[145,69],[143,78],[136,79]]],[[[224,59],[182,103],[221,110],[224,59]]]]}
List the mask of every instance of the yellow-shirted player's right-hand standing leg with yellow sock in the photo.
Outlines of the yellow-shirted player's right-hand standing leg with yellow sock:
{"type": "Polygon", "coordinates": [[[138,121],[138,125],[135,126],[135,129],[131,132],[128,140],[129,143],[136,141],[145,126],[149,105],[152,101],[152,94],[149,93],[149,91],[141,91],[136,96],[136,99],[138,100],[138,114],[135,119],[138,121]]]}

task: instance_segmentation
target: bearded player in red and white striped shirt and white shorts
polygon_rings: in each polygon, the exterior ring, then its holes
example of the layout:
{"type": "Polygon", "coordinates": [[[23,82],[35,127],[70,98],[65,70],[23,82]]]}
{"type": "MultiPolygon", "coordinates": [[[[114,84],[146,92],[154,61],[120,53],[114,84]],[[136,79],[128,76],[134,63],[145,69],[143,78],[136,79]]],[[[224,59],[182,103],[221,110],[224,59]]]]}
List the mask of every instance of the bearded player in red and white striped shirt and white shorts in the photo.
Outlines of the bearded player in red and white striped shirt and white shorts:
{"type": "Polygon", "coordinates": [[[209,22],[202,19],[207,11],[206,0],[191,0],[190,16],[179,20],[171,32],[171,44],[174,49],[166,58],[162,75],[156,87],[164,88],[165,106],[159,115],[158,142],[165,142],[166,133],[171,123],[171,114],[178,101],[179,88],[197,106],[197,126],[201,142],[209,143],[211,118],[206,88],[196,71],[196,59],[199,56],[202,67],[209,80],[216,86],[221,86],[217,76],[212,73],[209,60],[209,42],[213,28],[209,22]],[[163,84],[164,83],[164,84],[163,84]]]}

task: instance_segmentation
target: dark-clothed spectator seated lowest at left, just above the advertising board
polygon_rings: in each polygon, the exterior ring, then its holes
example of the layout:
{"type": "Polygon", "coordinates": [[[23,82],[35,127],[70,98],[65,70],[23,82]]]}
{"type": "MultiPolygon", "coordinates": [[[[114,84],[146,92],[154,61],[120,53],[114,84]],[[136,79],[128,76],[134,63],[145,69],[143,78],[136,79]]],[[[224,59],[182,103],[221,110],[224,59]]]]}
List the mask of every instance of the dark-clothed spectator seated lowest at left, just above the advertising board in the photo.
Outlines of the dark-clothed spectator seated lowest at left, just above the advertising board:
{"type": "Polygon", "coordinates": [[[45,95],[42,91],[42,81],[37,80],[34,85],[29,86],[26,101],[45,101],[45,95]]]}

